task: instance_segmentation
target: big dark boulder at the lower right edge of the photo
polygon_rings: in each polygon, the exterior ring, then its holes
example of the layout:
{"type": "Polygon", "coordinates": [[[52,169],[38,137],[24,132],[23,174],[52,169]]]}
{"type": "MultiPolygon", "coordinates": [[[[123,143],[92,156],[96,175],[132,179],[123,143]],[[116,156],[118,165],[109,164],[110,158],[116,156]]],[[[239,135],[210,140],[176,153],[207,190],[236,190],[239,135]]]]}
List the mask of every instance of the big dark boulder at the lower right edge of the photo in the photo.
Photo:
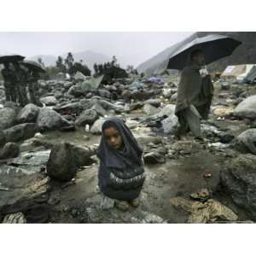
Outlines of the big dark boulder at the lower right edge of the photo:
{"type": "Polygon", "coordinates": [[[256,220],[256,156],[242,154],[229,160],[220,181],[232,200],[256,220]]]}

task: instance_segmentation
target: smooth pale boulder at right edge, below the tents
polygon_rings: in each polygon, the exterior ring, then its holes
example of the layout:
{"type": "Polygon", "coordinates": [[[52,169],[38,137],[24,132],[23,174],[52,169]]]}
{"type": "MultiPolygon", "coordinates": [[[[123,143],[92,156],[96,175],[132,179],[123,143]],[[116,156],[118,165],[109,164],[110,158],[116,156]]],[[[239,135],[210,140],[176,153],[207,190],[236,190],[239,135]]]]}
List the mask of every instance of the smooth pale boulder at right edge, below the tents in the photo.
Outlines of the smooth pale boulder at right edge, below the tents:
{"type": "Polygon", "coordinates": [[[241,119],[256,119],[256,96],[249,96],[239,103],[233,114],[241,119]]]}

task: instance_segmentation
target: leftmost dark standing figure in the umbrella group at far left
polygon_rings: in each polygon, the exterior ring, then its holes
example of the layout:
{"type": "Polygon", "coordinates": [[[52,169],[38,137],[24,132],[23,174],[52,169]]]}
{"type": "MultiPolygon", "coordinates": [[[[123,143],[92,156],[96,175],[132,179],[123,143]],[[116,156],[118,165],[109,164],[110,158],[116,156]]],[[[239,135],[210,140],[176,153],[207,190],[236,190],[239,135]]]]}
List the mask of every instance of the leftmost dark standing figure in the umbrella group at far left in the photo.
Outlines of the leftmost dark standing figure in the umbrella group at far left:
{"type": "Polygon", "coordinates": [[[9,62],[3,63],[2,76],[4,80],[5,99],[7,102],[17,100],[17,77],[15,72],[9,67],[9,62]]]}

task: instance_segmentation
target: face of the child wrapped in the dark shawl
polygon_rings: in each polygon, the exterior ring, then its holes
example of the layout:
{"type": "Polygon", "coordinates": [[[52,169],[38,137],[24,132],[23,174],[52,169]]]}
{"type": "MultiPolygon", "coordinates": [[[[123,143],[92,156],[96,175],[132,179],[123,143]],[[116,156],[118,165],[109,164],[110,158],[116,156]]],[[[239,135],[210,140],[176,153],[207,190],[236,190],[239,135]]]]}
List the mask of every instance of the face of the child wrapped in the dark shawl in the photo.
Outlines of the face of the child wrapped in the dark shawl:
{"type": "Polygon", "coordinates": [[[107,139],[108,146],[119,150],[123,146],[123,138],[119,130],[113,126],[103,131],[103,136],[107,139]]]}

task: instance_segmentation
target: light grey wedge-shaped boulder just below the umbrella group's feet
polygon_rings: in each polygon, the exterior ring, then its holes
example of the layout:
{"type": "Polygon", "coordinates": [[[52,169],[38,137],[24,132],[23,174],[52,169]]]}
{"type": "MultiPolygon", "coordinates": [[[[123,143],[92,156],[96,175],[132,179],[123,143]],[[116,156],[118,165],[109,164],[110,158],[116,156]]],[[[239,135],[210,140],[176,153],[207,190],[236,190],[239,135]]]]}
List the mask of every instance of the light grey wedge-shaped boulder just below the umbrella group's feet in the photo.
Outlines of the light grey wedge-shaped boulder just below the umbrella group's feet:
{"type": "Polygon", "coordinates": [[[38,113],[37,127],[39,131],[55,130],[68,125],[68,121],[51,108],[41,108],[38,113]]]}

